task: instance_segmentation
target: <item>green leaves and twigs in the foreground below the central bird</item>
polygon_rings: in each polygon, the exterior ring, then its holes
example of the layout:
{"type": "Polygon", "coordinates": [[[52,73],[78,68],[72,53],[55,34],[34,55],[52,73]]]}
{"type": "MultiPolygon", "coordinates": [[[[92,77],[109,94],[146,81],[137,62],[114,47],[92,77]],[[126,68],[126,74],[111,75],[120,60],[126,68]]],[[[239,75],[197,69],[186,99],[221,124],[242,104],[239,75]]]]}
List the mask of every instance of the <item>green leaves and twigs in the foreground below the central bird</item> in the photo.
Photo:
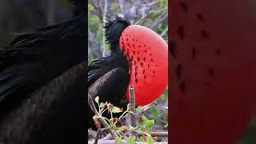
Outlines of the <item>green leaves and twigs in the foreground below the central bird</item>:
{"type": "MultiPolygon", "coordinates": [[[[122,143],[122,138],[126,138],[127,131],[135,131],[138,134],[141,134],[141,136],[138,136],[139,141],[145,141],[149,144],[154,143],[154,138],[150,135],[150,131],[152,131],[154,126],[154,120],[148,119],[144,115],[141,116],[141,120],[137,127],[130,126],[129,124],[121,125],[123,119],[127,117],[127,114],[134,114],[130,110],[130,103],[128,103],[127,108],[125,111],[123,111],[121,108],[118,108],[117,106],[113,106],[110,102],[99,102],[99,97],[96,97],[95,102],[98,105],[98,115],[94,115],[94,123],[95,126],[98,128],[101,128],[101,123],[99,121],[99,118],[104,118],[106,122],[110,125],[110,129],[114,130],[114,133],[118,134],[118,137],[115,138],[116,143],[122,143]],[[110,114],[110,118],[106,118],[103,115],[103,113],[108,112],[110,114]],[[118,118],[114,118],[113,115],[115,113],[122,113],[118,118]]],[[[139,109],[138,107],[137,109],[139,109]]],[[[127,122],[126,122],[127,123],[127,122]]],[[[136,137],[132,136],[128,138],[128,143],[134,143],[136,137]]]]}

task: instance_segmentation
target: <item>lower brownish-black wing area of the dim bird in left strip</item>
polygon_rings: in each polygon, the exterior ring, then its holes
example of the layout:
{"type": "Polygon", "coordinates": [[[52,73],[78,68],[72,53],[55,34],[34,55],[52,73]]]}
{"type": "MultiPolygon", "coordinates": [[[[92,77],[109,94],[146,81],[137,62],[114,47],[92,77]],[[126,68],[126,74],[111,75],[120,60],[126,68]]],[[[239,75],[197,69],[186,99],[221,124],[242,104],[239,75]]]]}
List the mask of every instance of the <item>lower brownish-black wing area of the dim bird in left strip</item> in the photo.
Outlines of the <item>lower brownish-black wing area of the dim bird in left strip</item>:
{"type": "MultiPolygon", "coordinates": [[[[11,102],[11,110],[0,117],[0,142],[8,144],[70,144],[86,142],[86,100],[84,71],[86,62],[79,63],[11,102]]],[[[2,113],[0,113],[2,115],[2,113]]]]}

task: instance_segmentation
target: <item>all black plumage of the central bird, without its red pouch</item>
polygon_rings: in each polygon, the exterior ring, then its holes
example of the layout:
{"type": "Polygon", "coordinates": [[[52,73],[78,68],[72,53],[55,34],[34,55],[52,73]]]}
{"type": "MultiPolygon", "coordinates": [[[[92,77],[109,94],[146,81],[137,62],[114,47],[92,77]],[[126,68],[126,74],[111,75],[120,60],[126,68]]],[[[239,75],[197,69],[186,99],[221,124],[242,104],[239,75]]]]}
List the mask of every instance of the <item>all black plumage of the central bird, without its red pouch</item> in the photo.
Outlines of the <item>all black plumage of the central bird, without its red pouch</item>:
{"type": "MultiPolygon", "coordinates": [[[[111,54],[106,58],[94,60],[88,67],[88,94],[92,98],[99,96],[101,102],[111,102],[114,106],[122,105],[130,81],[130,63],[119,48],[119,38],[127,26],[130,26],[130,22],[123,18],[106,22],[105,37],[110,43],[111,54]]],[[[89,111],[89,127],[94,127],[94,114],[89,111]]]]}

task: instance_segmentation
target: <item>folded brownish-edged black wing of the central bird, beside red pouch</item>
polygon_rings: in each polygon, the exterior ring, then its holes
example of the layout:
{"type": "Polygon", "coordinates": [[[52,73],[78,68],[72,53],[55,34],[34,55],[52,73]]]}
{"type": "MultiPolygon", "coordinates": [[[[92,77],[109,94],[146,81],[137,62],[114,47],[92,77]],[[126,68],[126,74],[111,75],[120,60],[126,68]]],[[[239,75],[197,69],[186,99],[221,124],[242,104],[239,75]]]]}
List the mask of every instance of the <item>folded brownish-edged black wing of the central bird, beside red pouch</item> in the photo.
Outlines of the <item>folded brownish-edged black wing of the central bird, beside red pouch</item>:
{"type": "MultiPolygon", "coordinates": [[[[93,99],[98,96],[100,102],[111,102],[114,106],[122,107],[122,100],[124,100],[129,79],[127,70],[122,67],[116,67],[91,84],[88,89],[88,95],[93,99]]],[[[88,107],[88,111],[88,118],[90,118],[88,125],[94,129],[94,122],[91,119],[94,114],[90,107],[88,107]]]]}

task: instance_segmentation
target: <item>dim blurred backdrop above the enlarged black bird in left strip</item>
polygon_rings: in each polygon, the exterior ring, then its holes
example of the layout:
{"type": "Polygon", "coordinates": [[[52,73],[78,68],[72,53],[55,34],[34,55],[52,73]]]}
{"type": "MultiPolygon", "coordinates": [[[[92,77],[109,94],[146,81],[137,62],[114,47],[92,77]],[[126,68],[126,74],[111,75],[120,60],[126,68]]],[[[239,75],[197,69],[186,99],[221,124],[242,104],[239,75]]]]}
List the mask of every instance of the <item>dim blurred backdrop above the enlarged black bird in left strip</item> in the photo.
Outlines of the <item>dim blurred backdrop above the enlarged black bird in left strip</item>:
{"type": "Polygon", "coordinates": [[[0,46],[17,34],[72,18],[73,9],[70,0],[1,0],[0,46]]]}

